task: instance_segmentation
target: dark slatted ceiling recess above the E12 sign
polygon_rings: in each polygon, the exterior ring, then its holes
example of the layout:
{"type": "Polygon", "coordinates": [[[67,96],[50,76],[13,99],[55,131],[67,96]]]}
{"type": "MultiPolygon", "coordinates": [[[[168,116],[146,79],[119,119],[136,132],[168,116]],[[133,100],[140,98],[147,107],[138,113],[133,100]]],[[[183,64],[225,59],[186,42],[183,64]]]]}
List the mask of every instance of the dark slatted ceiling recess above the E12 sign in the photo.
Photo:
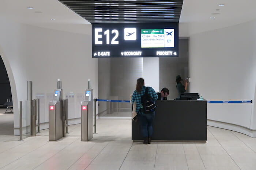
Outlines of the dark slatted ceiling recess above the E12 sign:
{"type": "Polygon", "coordinates": [[[183,0],[59,0],[90,23],[178,22],[183,0]]]}

